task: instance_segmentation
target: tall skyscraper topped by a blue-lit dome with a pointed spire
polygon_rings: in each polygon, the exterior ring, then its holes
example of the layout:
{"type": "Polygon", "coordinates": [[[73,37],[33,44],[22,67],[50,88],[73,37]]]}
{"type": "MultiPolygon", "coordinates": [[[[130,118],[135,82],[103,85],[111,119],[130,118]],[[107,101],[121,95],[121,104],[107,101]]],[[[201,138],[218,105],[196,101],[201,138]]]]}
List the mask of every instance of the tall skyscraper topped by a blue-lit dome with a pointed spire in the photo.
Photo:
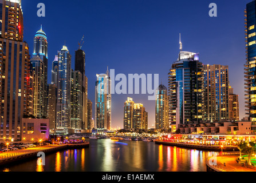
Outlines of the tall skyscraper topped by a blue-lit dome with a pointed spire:
{"type": "MultiPolygon", "coordinates": [[[[37,117],[46,117],[47,116],[47,77],[48,77],[48,42],[45,32],[41,29],[37,31],[35,37],[34,37],[34,51],[33,51],[33,57],[40,57],[42,62],[42,68],[38,68],[38,70],[41,70],[42,73],[41,77],[41,83],[36,83],[36,85],[40,85],[41,88],[38,90],[41,94],[41,102],[42,102],[42,110],[41,114],[37,112],[37,117]]],[[[35,86],[36,86],[35,85],[35,86]]]]}

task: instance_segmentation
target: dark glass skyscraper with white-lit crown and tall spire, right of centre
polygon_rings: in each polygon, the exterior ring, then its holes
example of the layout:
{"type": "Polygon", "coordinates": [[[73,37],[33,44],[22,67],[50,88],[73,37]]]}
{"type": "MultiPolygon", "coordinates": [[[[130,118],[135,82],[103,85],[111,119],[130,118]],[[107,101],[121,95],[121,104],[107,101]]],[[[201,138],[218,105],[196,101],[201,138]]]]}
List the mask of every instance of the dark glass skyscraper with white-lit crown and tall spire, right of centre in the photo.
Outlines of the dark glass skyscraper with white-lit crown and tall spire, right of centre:
{"type": "Polygon", "coordinates": [[[199,54],[182,51],[169,73],[169,113],[172,129],[203,121],[203,65],[199,54]]]}

